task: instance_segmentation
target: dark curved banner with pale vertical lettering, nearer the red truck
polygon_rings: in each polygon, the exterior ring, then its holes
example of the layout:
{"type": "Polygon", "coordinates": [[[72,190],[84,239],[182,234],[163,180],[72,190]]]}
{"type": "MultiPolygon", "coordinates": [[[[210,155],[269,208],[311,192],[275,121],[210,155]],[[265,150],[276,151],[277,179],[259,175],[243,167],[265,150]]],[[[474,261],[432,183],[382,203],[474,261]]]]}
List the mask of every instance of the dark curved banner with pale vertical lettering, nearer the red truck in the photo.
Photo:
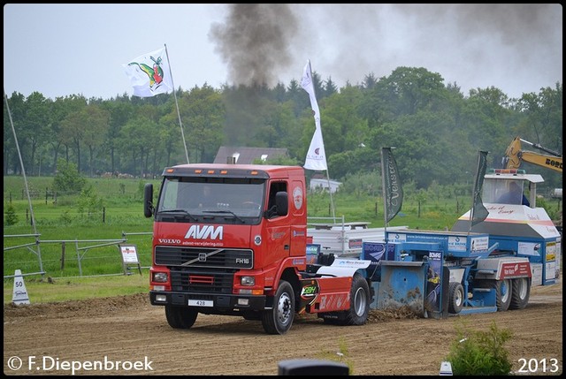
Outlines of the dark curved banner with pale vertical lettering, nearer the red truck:
{"type": "Polygon", "coordinates": [[[397,163],[391,148],[381,148],[381,164],[385,193],[386,223],[393,220],[401,210],[403,189],[397,163]]]}

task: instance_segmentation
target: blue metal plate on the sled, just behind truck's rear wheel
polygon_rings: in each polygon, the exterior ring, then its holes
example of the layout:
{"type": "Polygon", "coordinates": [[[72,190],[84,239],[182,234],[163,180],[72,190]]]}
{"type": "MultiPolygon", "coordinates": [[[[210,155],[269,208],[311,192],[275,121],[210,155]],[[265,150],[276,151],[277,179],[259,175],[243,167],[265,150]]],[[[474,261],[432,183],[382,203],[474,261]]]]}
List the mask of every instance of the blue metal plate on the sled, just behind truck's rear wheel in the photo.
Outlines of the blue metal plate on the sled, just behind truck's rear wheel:
{"type": "Polygon", "coordinates": [[[424,262],[381,261],[377,308],[409,307],[415,315],[424,317],[427,270],[424,262]]]}

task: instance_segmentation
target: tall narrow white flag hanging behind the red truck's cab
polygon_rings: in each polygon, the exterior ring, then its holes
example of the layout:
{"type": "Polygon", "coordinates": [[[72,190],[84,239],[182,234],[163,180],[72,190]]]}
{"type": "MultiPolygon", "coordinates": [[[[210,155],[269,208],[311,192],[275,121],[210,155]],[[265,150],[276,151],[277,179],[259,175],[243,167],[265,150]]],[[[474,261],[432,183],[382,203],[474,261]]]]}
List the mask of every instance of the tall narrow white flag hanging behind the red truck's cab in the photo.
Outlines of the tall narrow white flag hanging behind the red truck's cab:
{"type": "Polygon", "coordinates": [[[304,162],[304,168],[315,171],[328,170],[326,166],[325,144],[322,140],[322,129],[320,128],[320,110],[318,110],[317,96],[315,87],[312,83],[312,72],[310,71],[310,60],[304,66],[301,80],[302,89],[307,91],[310,98],[310,108],[315,117],[315,133],[310,140],[309,151],[304,162]]]}

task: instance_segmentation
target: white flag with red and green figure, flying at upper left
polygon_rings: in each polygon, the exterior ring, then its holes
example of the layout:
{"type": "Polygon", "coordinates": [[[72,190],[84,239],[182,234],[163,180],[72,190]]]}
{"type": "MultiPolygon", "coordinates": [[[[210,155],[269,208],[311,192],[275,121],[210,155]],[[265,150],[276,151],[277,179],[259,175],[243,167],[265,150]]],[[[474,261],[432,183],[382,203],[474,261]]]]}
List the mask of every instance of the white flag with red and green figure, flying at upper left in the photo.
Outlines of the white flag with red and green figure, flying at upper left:
{"type": "Polygon", "coordinates": [[[134,95],[151,97],[172,91],[172,76],[165,48],[136,57],[122,64],[134,87],[134,95]]]}

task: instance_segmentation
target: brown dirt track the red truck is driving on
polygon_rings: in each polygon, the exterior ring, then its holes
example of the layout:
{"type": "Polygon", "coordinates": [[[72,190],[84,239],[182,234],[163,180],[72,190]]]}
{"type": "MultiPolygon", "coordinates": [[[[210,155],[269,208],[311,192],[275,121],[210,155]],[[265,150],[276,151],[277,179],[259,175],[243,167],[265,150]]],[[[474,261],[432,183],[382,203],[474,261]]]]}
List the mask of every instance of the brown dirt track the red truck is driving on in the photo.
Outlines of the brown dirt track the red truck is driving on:
{"type": "Polygon", "coordinates": [[[4,374],[68,375],[71,368],[65,365],[104,364],[106,357],[106,368],[111,368],[109,361],[147,359],[151,369],[135,370],[128,363],[102,371],[83,366],[75,374],[277,375],[280,360],[330,359],[345,348],[342,361],[351,375],[438,375],[461,322],[474,330],[488,330],[492,322],[512,330],[506,346],[514,371],[524,359],[532,360],[532,367],[539,362],[530,375],[562,374],[562,278],[555,285],[533,287],[523,310],[446,320],[371,311],[370,321],[357,327],[325,325],[309,316],[295,319],[284,336],[266,335],[261,322],[213,315],[199,315],[190,330],[173,330],[164,308],[150,306],[147,295],[4,305],[4,374]],[[555,373],[550,372],[552,359],[557,360],[555,373]],[[19,360],[22,367],[12,370],[19,360]],[[40,368],[43,361],[49,371],[40,368]]]}

